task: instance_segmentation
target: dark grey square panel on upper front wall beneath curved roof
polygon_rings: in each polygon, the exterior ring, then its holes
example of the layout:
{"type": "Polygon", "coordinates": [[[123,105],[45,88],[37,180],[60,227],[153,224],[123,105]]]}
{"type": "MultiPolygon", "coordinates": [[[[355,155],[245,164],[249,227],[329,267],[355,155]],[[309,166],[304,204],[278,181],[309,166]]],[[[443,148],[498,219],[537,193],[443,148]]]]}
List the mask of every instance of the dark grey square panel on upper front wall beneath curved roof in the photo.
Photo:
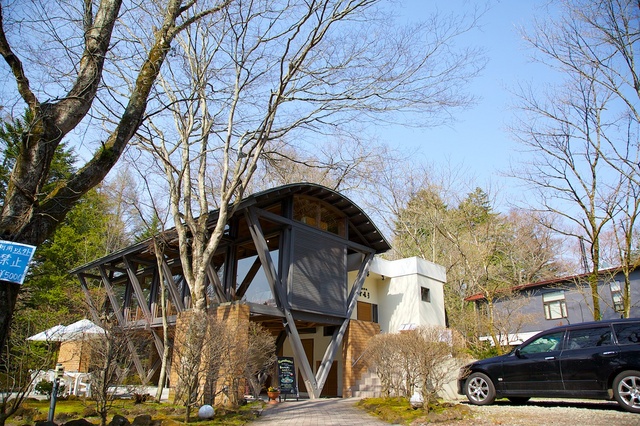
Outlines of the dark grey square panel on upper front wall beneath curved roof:
{"type": "Polygon", "coordinates": [[[295,229],[289,300],[292,309],[345,317],[347,250],[332,238],[295,229]]]}

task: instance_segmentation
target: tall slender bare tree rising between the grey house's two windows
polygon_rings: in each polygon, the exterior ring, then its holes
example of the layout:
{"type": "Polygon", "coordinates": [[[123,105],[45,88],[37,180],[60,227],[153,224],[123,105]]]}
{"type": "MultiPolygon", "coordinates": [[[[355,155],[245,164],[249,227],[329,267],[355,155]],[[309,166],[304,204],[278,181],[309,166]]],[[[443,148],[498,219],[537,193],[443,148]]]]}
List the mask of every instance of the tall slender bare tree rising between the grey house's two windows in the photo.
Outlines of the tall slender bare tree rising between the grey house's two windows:
{"type": "Polygon", "coordinates": [[[533,159],[524,174],[514,174],[536,189],[545,211],[571,224],[557,231],[587,243],[594,319],[601,317],[600,236],[614,218],[624,220],[634,210],[623,203],[627,212],[621,213],[619,200],[638,173],[638,147],[629,143],[640,118],[637,17],[637,3],[628,0],[566,0],[559,18],[538,23],[526,36],[565,83],[546,97],[520,92],[523,114],[514,130],[533,159]]]}

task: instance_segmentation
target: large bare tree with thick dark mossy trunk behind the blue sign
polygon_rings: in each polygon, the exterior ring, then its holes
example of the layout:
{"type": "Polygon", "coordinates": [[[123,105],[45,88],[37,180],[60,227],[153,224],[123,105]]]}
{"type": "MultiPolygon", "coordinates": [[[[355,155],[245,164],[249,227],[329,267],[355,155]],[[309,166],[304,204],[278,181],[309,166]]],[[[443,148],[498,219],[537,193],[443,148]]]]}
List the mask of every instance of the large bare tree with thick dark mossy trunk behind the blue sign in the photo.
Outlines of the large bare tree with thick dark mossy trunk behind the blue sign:
{"type": "MultiPolygon", "coordinates": [[[[198,2],[166,0],[123,7],[121,0],[101,0],[82,2],[78,8],[61,0],[0,6],[0,53],[8,67],[3,74],[10,74],[13,81],[2,88],[3,100],[14,101],[19,111],[26,106],[34,117],[22,134],[2,203],[3,239],[37,246],[52,235],[78,199],[107,175],[136,133],[175,37],[228,3],[221,0],[200,7],[198,2]],[[146,19],[139,15],[136,19],[140,13],[146,19]],[[127,20],[140,23],[137,30],[150,40],[148,49],[129,42],[126,31],[120,31],[127,20]],[[135,70],[124,83],[119,78],[123,75],[111,72],[117,70],[111,65],[119,61],[132,63],[130,70],[135,70]],[[106,80],[108,84],[103,84],[106,80]],[[126,81],[133,83],[127,87],[126,81]],[[106,108],[112,101],[107,112],[113,125],[92,128],[95,108],[106,108]],[[95,140],[88,147],[93,154],[67,180],[45,192],[56,148],[79,135],[95,140]]],[[[0,346],[4,347],[20,287],[1,284],[0,346]]]]}

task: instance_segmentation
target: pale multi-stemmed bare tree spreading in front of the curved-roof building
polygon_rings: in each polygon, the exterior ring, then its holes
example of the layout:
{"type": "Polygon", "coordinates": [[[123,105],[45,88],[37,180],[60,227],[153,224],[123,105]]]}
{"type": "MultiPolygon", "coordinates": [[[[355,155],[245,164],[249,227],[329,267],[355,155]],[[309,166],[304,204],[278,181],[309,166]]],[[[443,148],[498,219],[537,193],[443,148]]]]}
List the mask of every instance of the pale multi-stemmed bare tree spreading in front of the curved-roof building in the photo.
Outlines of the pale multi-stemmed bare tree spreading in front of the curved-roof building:
{"type": "Polygon", "coordinates": [[[474,52],[442,49],[474,21],[378,25],[377,6],[238,1],[179,38],[182,66],[163,72],[159,112],[137,146],[153,153],[165,174],[194,309],[206,309],[206,272],[227,218],[259,163],[282,158],[283,143],[317,145],[332,129],[371,116],[421,111],[432,120],[468,103],[458,89],[477,72],[469,61],[474,52]],[[204,213],[212,206],[218,216],[209,229],[204,213]]]}

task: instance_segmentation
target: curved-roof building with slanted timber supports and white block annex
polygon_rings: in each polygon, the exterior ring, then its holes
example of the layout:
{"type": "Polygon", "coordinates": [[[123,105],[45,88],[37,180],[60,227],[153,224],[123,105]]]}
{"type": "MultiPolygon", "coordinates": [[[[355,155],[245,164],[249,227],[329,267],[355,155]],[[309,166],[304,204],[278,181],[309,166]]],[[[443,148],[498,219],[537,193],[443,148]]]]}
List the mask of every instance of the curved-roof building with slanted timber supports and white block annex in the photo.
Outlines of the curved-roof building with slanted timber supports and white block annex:
{"type": "MultiPolygon", "coordinates": [[[[210,213],[212,226],[217,214],[210,213]]],[[[130,345],[138,373],[151,382],[164,350],[152,247],[143,241],[72,271],[95,322],[106,311],[153,336],[151,357],[130,345]],[[100,308],[91,297],[95,289],[108,296],[100,308]]],[[[417,258],[376,257],[389,248],[371,219],[343,195],[307,183],[273,188],[242,200],[229,219],[209,265],[207,304],[228,321],[257,321],[278,336],[279,354],[294,358],[299,388],[309,397],[353,395],[368,374],[358,360],[372,336],[445,324],[444,268],[417,258]]],[[[179,333],[191,298],[177,241],[165,251],[162,269],[169,321],[179,333]]]]}

